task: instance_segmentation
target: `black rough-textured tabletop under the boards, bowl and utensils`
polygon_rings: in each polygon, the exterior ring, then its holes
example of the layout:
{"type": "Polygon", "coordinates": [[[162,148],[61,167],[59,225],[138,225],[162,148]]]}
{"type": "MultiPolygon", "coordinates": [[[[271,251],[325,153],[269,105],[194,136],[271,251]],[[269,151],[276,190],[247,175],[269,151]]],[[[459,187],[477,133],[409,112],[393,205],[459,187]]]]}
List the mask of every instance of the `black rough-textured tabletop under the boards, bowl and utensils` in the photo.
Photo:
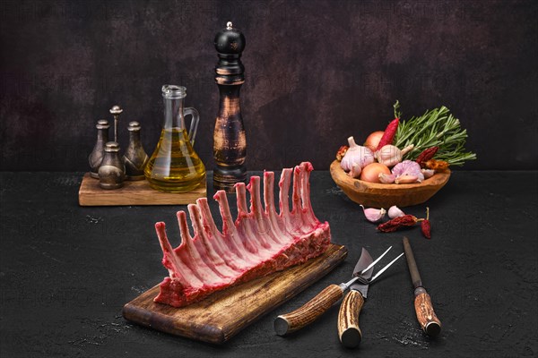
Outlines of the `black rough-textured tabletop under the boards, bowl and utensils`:
{"type": "MultiPolygon", "coordinates": [[[[456,171],[428,202],[430,241],[418,227],[377,234],[328,172],[314,172],[315,213],[330,223],[333,242],[348,247],[348,258],[221,346],[142,328],[121,316],[125,303],[167,274],[153,224],[169,223],[169,236],[178,237],[172,224],[176,210],[185,207],[82,208],[77,202],[81,173],[0,177],[2,357],[538,354],[536,172],[456,171]],[[362,246],[377,256],[393,245],[390,255],[395,256],[403,251],[404,234],[443,323],[440,337],[430,339],[419,328],[404,260],[370,287],[360,314],[359,350],[344,349],[338,341],[337,305],[291,337],[273,333],[276,315],[348,278],[362,246]]],[[[404,210],[423,216],[425,209],[426,204],[404,210]]],[[[212,210],[217,212],[216,203],[212,210]]]]}

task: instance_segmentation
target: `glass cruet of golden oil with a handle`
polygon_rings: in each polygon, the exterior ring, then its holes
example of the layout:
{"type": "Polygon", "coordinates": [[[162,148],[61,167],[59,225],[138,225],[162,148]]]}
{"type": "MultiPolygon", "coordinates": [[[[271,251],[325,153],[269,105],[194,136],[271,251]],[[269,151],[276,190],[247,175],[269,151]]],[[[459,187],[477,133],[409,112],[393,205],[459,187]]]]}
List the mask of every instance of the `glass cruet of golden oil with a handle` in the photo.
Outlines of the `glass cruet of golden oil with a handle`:
{"type": "Polygon", "coordinates": [[[200,115],[195,108],[184,108],[187,89],[162,86],[164,123],[161,138],[144,168],[153,189],[161,192],[189,192],[205,185],[205,166],[193,149],[200,115]],[[192,115],[187,133],[185,115],[192,115]]]}

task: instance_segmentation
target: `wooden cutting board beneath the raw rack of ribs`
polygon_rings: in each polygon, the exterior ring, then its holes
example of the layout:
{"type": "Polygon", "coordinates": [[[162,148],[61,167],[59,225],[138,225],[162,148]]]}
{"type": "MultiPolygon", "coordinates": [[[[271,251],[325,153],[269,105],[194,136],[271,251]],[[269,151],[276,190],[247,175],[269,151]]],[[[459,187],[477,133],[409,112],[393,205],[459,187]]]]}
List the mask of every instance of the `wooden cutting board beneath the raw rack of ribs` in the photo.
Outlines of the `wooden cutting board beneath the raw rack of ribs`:
{"type": "Polygon", "coordinates": [[[174,308],[154,303],[159,286],[144,292],[123,309],[126,320],[172,335],[222,344],[242,328],[299,294],[345,259],[347,249],[331,244],[315,259],[266,277],[216,292],[199,303],[174,308]]]}

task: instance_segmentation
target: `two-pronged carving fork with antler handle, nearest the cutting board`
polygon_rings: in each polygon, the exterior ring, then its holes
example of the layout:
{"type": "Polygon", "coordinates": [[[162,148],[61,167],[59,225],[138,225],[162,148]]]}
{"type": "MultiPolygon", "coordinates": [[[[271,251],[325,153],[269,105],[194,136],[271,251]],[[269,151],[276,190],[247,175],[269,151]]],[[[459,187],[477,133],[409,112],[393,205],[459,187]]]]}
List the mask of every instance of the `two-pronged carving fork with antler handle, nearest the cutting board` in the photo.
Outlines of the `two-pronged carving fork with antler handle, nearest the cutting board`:
{"type": "MultiPolygon", "coordinates": [[[[390,248],[389,248],[390,250],[390,248]]],[[[369,273],[371,277],[373,267],[375,263],[380,260],[383,255],[388,251],[385,251],[376,261],[373,261],[368,251],[367,255],[364,255],[366,250],[362,249],[359,261],[353,268],[353,272],[359,272],[360,274],[369,273]],[[365,272],[361,272],[364,271],[365,272]]],[[[340,301],[343,297],[343,292],[348,289],[357,280],[357,277],[351,278],[351,280],[341,285],[331,285],[325,287],[325,289],[312,298],[308,303],[305,303],[295,311],[282,314],[274,320],[274,331],[279,336],[284,336],[299,330],[305,326],[308,326],[314,320],[317,320],[325,311],[333,306],[334,303],[340,301]]],[[[366,287],[368,291],[368,286],[366,287]]]]}

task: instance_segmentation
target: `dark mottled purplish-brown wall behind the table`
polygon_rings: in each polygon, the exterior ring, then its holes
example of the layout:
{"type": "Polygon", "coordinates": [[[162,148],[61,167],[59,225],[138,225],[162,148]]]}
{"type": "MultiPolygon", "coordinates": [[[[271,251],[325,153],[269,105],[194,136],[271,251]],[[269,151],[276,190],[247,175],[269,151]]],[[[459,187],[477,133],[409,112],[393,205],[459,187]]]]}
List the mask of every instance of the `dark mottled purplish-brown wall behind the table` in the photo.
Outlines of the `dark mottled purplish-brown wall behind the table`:
{"type": "Polygon", "coordinates": [[[125,108],[151,152],[161,85],[187,86],[213,167],[214,34],[244,32],[249,169],[327,169],[349,135],[446,105],[468,129],[473,169],[536,168],[533,1],[2,1],[3,170],[86,170],[94,124],[125,108]]]}

